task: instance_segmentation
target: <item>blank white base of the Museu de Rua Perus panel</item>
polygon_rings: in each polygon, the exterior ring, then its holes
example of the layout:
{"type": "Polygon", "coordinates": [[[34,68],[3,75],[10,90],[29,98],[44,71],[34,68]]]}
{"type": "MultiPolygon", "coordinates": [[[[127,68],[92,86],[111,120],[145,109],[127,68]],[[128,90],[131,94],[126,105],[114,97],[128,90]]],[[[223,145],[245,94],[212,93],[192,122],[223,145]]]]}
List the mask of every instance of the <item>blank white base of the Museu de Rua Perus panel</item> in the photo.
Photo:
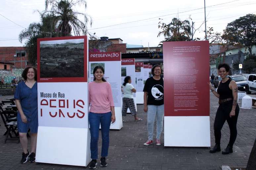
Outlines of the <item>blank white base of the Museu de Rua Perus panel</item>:
{"type": "Polygon", "coordinates": [[[87,166],[90,157],[88,128],[38,127],[36,162],[87,166]]]}

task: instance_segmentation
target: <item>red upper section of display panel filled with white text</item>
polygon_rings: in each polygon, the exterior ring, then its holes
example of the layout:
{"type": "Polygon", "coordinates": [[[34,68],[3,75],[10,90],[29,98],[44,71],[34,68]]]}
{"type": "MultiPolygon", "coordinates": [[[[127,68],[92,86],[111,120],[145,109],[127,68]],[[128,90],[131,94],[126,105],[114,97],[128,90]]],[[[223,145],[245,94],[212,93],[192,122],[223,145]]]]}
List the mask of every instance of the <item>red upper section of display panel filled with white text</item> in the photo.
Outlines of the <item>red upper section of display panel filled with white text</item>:
{"type": "Polygon", "coordinates": [[[209,42],[164,42],[164,116],[209,116],[209,42]]]}

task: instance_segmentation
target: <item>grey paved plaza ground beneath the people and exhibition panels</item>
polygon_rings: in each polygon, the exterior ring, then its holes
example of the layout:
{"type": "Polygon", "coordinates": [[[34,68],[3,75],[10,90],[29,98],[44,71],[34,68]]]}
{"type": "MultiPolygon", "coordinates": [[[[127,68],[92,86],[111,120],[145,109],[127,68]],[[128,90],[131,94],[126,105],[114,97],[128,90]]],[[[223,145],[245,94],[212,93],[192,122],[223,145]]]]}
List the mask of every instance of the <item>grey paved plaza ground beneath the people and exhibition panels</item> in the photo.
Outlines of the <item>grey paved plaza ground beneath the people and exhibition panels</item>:
{"type": "MultiPolygon", "coordinates": [[[[11,96],[1,96],[0,101],[11,96]]],[[[211,145],[214,146],[213,122],[218,108],[217,98],[211,94],[210,99],[210,122],[211,122],[211,145]]],[[[241,103],[239,103],[241,106],[241,103]]],[[[109,156],[107,167],[101,167],[98,163],[97,169],[105,170],[132,170],[132,169],[220,169],[222,165],[230,167],[246,167],[247,161],[256,137],[256,109],[241,109],[237,123],[237,139],[234,145],[234,153],[222,155],[221,152],[210,154],[208,148],[198,147],[163,147],[164,139],[162,132],[161,146],[155,143],[144,146],[147,140],[147,114],[143,112],[143,105],[137,105],[138,117],[142,122],[135,122],[131,115],[124,117],[121,130],[110,130],[109,156]]],[[[3,133],[5,127],[0,120],[0,169],[84,169],[85,167],[56,165],[46,163],[25,163],[20,164],[21,144],[17,141],[7,141],[4,144],[3,133]]],[[[155,137],[155,136],[154,136],[155,137]]],[[[173,139],[175,140],[175,139],[173,139]]],[[[229,127],[225,123],[222,129],[221,148],[224,149],[229,141],[229,127]]],[[[30,139],[29,139],[30,145],[30,139]]],[[[101,147],[101,139],[99,141],[101,147]]],[[[99,149],[99,152],[101,150],[99,149]]],[[[75,151],[74,151],[75,155],[75,151]]],[[[47,155],[46,155],[47,156],[47,155]]],[[[73,156],[73,155],[70,155],[73,156]]],[[[99,153],[100,157],[100,153],[99,153]]],[[[67,158],[68,159],[68,158],[67,158]]],[[[99,160],[98,160],[99,162],[99,160]]],[[[88,167],[86,169],[89,169],[88,167]]]]}

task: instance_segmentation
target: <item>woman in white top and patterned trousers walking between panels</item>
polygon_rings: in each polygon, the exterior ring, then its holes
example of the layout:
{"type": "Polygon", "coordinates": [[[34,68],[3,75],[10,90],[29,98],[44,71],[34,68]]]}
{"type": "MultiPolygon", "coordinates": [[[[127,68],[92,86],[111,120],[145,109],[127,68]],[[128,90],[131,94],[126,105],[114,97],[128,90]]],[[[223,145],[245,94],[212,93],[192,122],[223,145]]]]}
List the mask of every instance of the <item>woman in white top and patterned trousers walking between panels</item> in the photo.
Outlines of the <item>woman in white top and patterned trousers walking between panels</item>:
{"type": "Polygon", "coordinates": [[[124,83],[122,85],[123,92],[123,105],[122,105],[122,115],[126,116],[127,109],[129,108],[131,114],[134,116],[135,121],[142,121],[141,118],[137,117],[137,111],[133,101],[133,93],[136,93],[136,89],[131,84],[132,79],[130,76],[124,78],[124,83]]]}

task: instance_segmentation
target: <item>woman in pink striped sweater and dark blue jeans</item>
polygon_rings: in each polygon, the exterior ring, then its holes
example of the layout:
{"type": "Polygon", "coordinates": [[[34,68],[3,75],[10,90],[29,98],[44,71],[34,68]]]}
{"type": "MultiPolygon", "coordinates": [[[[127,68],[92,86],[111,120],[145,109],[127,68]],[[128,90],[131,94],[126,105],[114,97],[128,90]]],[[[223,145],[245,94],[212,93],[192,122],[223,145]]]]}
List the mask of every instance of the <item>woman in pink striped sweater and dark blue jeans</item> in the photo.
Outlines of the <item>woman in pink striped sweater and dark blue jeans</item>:
{"type": "Polygon", "coordinates": [[[107,166],[106,156],[109,146],[110,123],[115,122],[114,101],[110,84],[103,78],[104,69],[96,66],[93,70],[94,81],[89,83],[89,123],[91,133],[90,169],[95,169],[98,158],[99,128],[101,125],[102,148],[101,166],[107,166]]]}

